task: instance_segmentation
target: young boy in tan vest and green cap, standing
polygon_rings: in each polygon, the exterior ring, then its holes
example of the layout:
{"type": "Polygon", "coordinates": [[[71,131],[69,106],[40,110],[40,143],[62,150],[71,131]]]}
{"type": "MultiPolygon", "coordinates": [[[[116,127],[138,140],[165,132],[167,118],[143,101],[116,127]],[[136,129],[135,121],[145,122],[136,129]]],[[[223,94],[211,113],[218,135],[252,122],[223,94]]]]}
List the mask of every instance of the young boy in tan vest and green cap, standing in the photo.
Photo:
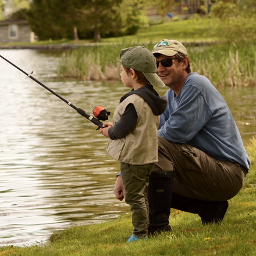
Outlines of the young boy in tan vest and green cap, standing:
{"type": "Polygon", "coordinates": [[[156,59],[148,49],[123,49],[119,61],[121,80],[133,89],[121,97],[113,124],[104,123],[100,132],[110,138],[106,154],[120,162],[125,202],[132,211],[133,233],[127,242],[132,242],[148,238],[149,176],[157,162],[157,129],[167,100],[153,88],[164,84],[156,75],[156,59]]]}

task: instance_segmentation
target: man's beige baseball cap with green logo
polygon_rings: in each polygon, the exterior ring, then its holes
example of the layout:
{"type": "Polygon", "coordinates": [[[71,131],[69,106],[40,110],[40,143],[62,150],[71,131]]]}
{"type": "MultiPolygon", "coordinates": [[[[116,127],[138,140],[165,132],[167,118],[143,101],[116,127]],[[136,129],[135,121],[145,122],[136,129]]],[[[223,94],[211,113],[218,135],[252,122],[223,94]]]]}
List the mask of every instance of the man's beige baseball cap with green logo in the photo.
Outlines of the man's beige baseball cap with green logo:
{"type": "Polygon", "coordinates": [[[154,46],[153,54],[160,53],[166,56],[173,56],[176,53],[182,53],[187,56],[187,50],[181,42],[176,40],[163,39],[154,46]]]}

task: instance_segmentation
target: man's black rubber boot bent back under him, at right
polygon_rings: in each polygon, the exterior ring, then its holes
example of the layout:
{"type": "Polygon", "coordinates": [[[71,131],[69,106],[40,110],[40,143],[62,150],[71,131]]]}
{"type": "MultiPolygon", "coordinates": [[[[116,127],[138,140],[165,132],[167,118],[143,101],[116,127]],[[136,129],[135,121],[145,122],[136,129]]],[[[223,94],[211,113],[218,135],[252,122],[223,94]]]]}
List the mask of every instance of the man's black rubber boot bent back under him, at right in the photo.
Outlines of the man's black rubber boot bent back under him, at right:
{"type": "Polygon", "coordinates": [[[218,223],[228,209],[228,201],[211,202],[173,193],[172,208],[198,214],[203,224],[218,223]]]}

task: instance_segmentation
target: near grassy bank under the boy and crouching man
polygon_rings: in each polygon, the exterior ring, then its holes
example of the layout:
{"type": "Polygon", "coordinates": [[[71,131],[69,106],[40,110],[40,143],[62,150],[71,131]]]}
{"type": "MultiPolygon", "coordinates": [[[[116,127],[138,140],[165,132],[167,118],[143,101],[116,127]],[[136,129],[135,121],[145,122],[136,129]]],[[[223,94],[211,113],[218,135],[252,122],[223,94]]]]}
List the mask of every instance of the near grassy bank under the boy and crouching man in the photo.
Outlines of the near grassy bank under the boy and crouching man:
{"type": "Polygon", "coordinates": [[[247,147],[250,172],[241,191],[229,200],[220,224],[202,225],[194,214],[172,210],[173,231],[127,244],[132,233],[131,215],[114,221],[69,228],[52,234],[47,245],[0,247],[0,255],[255,255],[256,254],[256,138],[247,147]]]}

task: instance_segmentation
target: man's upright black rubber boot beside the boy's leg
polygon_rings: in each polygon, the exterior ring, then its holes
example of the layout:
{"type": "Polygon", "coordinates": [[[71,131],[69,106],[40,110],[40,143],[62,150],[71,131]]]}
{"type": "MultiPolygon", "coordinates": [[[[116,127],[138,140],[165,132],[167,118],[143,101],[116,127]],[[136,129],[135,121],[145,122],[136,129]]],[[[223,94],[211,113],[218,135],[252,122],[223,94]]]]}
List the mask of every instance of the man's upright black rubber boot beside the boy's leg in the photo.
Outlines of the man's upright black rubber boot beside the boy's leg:
{"type": "Polygon", "coordinates": [[[151,173],[148,187],[149,235],[171,231],[170,206],[173,193],[173,172],[151,173]]]}

